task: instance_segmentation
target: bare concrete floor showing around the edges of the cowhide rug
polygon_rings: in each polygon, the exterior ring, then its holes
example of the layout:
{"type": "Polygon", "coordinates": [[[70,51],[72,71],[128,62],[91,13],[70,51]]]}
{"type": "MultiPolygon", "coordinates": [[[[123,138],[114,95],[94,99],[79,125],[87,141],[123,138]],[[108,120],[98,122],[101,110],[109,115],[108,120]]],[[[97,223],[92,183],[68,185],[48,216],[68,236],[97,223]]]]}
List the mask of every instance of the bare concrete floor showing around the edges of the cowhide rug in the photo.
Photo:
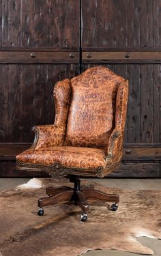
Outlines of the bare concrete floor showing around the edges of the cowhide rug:
{"type": "MultiPolygon", "coordinates": [[[[0,178],[0,190],[8,190],[23,183],[27,183],[30,179],[27,178],[0,178]]],[[[100,182],[100,184],[110,188],[126,188],[128,190],[137,189],[156,189],[161,190],[160,179],[91,179],[93,182],[100,182]]],[[[161,240],[151,238],[138,238],[139,242],[148,246],[154,252],[154,256],[161,256],[161,240]]],[[[134,253],[124,253],[119,251],[96,250],[88,251],[83,256],[135,256],[134,253]]]]}

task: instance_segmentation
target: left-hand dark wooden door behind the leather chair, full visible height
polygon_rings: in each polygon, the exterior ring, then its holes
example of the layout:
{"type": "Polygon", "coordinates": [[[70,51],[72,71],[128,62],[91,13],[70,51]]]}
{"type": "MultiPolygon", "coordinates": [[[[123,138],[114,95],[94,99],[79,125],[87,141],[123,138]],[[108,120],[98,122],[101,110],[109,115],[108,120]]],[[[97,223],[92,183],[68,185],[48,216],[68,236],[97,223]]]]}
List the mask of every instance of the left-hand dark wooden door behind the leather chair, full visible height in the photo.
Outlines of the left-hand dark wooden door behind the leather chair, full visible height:
{"type": "Polygon", "coordinates": [[[0,6],[4,177],[23,175],[16,172],[15,156],[30,146],[33,126],[53,124],[56,81],[79,73],[80,5],[75,0],[1,0],[0,6]]]}

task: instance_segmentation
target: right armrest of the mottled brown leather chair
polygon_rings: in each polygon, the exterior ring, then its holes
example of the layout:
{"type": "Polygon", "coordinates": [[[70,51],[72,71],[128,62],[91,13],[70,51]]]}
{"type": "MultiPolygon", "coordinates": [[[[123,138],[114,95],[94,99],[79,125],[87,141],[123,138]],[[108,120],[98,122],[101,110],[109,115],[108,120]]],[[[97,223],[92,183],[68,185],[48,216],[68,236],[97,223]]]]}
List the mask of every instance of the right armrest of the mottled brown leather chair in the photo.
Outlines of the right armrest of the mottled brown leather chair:
{"type": "Polygon", "coordinates": [[[108,141],[106,161],[108,163],[119,162],[122,157],[123,150],[123,132],[117,128],[111,133],[108,141]]]}

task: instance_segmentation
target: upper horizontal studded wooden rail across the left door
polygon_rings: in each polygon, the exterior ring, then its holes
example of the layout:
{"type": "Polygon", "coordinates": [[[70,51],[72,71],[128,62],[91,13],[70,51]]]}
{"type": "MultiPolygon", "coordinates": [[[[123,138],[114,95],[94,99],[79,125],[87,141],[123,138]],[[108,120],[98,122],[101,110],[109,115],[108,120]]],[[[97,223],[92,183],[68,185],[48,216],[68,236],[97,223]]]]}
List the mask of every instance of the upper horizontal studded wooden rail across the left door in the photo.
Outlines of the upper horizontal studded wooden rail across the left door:
{"type": "Polygon", "coordinates": [[[0,51],[0,63],[78,63],[78,52],[0,51]]]}

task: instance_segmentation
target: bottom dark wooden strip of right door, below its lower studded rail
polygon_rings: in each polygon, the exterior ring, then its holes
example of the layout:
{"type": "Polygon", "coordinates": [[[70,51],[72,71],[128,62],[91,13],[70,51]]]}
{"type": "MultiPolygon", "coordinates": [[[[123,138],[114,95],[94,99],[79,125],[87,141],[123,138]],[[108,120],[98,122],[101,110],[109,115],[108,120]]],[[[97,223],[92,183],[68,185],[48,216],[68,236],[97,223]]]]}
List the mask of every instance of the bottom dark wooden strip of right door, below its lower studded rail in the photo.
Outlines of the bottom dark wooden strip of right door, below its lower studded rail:
{"type": "Polygon", "coordinates": [[[160,177],[160,163],[124,162],[108,177],[160,177]]]}

